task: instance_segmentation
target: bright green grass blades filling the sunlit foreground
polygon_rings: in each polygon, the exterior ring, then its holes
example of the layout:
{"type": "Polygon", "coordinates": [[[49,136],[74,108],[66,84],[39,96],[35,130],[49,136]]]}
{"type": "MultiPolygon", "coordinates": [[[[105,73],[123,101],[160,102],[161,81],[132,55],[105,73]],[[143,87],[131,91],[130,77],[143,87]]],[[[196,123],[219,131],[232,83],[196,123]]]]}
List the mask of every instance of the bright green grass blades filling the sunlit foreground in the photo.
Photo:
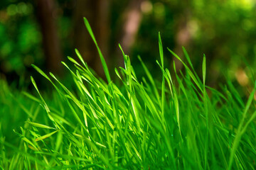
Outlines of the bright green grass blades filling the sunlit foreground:
{"type": "Polygon", "coordinates": [[[11,128],[1,129],[1,169],[255,169],[255,88],[246,102],[230,82],[222,93],[211,89],[206,85],[206,57],[203,77],[198,77],[185,49],[188,64],[169,51],[186,71],[176,73],[175,63],[169,71],[160,34],[159,77],[151,77],[153,71],[139,57],[146,75],[139,81],[123,53],[125,67],[114,69],[119,78],[115,84],[86,19],[85,26],[107,82],[93,74],[78,50],[82,64],[68,57],[75,65],[71,69],[63,62],[73,76],[68,83],[77,91],[33,65],[55,92],[47,98],[31,77],[38,98],[23,93],[31,99],[23,107],[16,97],[9,100],[27,116],[15,128],[18,145],[6,140],[5,130],[11,128]],[[11,154],[6,155],[7,149],[11,154]]]}

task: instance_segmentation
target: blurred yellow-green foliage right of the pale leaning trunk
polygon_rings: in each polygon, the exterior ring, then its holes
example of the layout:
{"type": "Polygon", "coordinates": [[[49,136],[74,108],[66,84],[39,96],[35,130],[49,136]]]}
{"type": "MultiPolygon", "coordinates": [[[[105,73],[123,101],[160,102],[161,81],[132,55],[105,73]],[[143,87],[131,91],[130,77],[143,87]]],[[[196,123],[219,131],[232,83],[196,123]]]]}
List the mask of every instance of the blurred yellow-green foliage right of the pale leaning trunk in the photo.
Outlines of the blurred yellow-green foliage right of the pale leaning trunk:
{"type": "MultiPolygon", "coordinates": [[[[237,79],[237,72],[244,70],[248,63],[250,67],[255,66],[255,1],[162,0],[150,1],[148,6],[150,10],[144,13],[133,55],[140,54],[144,60],[154,63],[159,55],[156,30],[161,31],[164,45],[172,49],[177,43],[178,24],[186,18],[185,27],[191,38],[184,46],[198,71],[201,71],[203,53],[206,54],[210,83],[223,79],[220,77],[223,74],[237,79]]],[[[165,56],[172,62],[167,50],[165,56]]]]}

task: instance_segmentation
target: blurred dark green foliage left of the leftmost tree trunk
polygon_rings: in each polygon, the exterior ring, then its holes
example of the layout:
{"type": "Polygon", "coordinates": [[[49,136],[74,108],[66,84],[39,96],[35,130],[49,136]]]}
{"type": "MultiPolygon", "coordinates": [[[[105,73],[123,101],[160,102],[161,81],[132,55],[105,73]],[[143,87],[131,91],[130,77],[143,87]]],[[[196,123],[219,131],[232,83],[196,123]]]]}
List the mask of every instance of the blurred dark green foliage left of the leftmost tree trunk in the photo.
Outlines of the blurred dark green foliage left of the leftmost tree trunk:
{"type": "Polygon", "coordinates": [[[32,4],[4,2],[1,1],[0,6],[1,70],[21,75],[31,63],[43,60],[41,33],[33,16],[32,4]]]}

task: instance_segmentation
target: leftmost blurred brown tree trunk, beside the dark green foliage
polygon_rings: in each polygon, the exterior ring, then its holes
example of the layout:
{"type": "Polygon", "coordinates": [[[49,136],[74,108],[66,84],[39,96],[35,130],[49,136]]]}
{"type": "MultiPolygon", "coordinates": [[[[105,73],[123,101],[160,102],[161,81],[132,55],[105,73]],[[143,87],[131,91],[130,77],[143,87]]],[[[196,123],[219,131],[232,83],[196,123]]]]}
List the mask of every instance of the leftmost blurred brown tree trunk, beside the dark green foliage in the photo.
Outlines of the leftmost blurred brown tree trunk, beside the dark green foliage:
{"type": "Polygon", "coordinates": [[[57,13],[55,1],[36,1],[38,23],[41,26],[43,35],[43,49],[46,56],[46,66],[50,72],[60,74],[61,60],[63,58],[58,38],[58,28],[56,26],[57,13]]]}

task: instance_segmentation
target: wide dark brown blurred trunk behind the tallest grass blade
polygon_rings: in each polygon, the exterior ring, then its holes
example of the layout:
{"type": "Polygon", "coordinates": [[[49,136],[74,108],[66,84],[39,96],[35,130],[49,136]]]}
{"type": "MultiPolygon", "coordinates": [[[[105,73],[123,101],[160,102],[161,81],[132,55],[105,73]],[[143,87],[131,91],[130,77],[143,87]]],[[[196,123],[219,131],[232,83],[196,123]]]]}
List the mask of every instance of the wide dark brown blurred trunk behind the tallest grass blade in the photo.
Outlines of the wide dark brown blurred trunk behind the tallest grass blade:
{"type": "MultiPolygon", "coordinates": [[[[106,0],[77,0],[73,16],[74,21],[74,45],[78,48],[85,62],[88,63],[97,74],[104,77],[104,71],[100,62],[97,49],[85,28],[83,17],[87,18],[92,27],[97,43],[104,55],[106,62],[109,56],[109,6],[110,1],[106,0]]],[[[107,62],[109,65],[109,63],[107,62]]]]}

